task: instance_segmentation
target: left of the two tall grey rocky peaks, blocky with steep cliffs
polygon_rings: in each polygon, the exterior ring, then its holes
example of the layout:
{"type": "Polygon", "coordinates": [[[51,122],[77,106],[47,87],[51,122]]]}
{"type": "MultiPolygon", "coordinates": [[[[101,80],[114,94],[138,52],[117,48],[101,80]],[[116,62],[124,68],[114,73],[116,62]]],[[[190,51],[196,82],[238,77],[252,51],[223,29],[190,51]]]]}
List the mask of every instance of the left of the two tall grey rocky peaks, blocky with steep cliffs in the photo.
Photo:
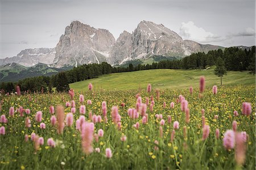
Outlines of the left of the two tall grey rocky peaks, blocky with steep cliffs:
{"type": "Polygon", "coordinates": [[[74,21],[60,37],[53,66],[59,68],[107,61],[114,42],[114,36],[108,30],[74,21]]]}

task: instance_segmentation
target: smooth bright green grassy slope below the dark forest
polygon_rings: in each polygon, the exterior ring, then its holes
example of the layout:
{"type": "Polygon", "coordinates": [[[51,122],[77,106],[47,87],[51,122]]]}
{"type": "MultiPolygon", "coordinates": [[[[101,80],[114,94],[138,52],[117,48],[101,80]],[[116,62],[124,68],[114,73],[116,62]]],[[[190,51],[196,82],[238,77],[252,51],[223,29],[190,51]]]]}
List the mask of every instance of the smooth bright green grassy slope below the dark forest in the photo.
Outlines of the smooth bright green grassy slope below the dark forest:
{"type": "MultiPolygon", "coordinates": [[[[70,84],[76,91],[88,90],[88,83],[94,88],[105,90],[133,90],[146,88],[151,83],[154,88],[194,88],[199,86],[199,78],[205,76],[206,86],[220,85],[220,77],[214,75],[213,69],[209,70],[142,70],[128,73],[115,73],[103,75],[96,79],[85,80],[70,84]]],[[[255,76],[247,71],[228,71],[222,79],[224,85],[254,84],[255,76]]]]}

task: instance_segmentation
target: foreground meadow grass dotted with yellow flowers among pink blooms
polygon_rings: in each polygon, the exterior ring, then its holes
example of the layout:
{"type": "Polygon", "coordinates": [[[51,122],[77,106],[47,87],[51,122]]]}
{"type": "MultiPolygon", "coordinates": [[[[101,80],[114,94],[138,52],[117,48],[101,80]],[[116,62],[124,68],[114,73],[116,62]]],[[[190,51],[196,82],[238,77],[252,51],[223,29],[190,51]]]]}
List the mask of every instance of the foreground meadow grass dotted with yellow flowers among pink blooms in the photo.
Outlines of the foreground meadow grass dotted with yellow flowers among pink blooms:
{"type": "MultiPolygon", "coordinates": [[[[187,87],[188,88],[188,87],[187,87]]],[[[154,96],[154,107],[147,107],[148,122],[143,124],[142,116],[131,118],[127,111],[134,108],[138,90],[127,91],[83,91],[76,92],[74,101],[76,112],[73,114],[73,124],[65,126],[63,134],[57,133],[56,126],[51,125],[52,115],[57,117],[57,109],[54,114],[49,113],[49,106],[65,105],[71,98],[67,93],[55,94],[26,94],[21,96],[0,96],[2,100],[1,114],[5,114],[7,123],[0,122],[0,127],[5,127],[6,133],[0,134],[0,169],[255,169],[255,109],[249,116],[241,113],[244,101],[251,103],[255,108],[255,90],[253,85],[246,86],[224,86],[218,87],[218,93],[212,94],[212,88],[205,88],[203,98],[199,97],[199,90],[195,89],[190,94],[188,89],[174,90],[164,88],[160,90],[159,100],[153,88],[150,93],[143,89],[142,102],[146,97],[154,96]],[[80,94],[84,99],[92,100],[92,105],[79,101],[80,94]],[[185,113],[181,112],[181,104],[176,103],[179,95],[183,95],[188,101],[190,110],[190,121],[185,122],[185,113]],[[31,100],[30,100],[31,99],[31,100]],[[92,142],[92,147],[100,149],[100,152],[92,152],[86,155],[82,149],[81,133],[77,124],[81,114],[80,105],[86,105],[86,121],[89,112],[102,116],[102,101],[106,101],[108,122],[97,122],[94,124],[93,133],[104,130],[104,136],[92,142]],[[163,103],[166,102],[166,108],[163,103]],[[175,107],[170,108],[174,102],[175,107]],[[121,103],[125,103],[123,107],[121,103]],[[9,108],[14,110],[20,106],[30,109],[31,113],[15,112],[11,117],[9,108]],[[121,116],[121,129],[112,121],[113,106],[119,106],[118,114],[121,116]],[[201,109],[205,109],[205,125],[209,125],[210,131],[207,139],[203,140],[203,124],[201,109]],[[233,116],[233,111],[238,111],[238,116],[233,116]],[[41,129],[35,119],[35,114],[42,111],[42,122],[46,129],[41,129]],[[163,134],[160,134],[160,120],[163,117],[165,124],[162,125],[163,134]],[[218,118],[214,118],[218,115],[218,118]],[[168,122],[168,116],[172,118],[168,122]],[[31,120],[31,127],[25,127],[25,120],[31,120]],[[179,129],[174,130],[174,121],[179,122],[179,129]],[[246,131],[248,137],[246,146],[245,163],[238,165],[235,160],[236,148],[226,150],[222,139],[226,130],[232,129],[233,121],[237,121],[237,131],[246,131]],[[138,129],[134,124],[140,124],[138,129]],[[185,130],[184,130],[185,128],[185,130]],[[215,131],[220,130],[220,138],[216,138],[215,131]],[[171,140],[172,131],[175,131],[171,140]],[[36,141],[31,141],[31,134],[44,138],[44,143],[36,148],[36,141]],[[28,135],[28,141],[24,136],[28,135]],[[122,142],[121,137],[126,135],[127,140],[122,142]],[[53,138],[56,147],[48,146],[47,140],[53,138]],[[155,143],[158,142],[158,144],[155,143]],[[105,156],[106,148],[112,150],[112,158],[105,156]]],[[[153,99],[153,97],[152,97],[153,99]]],[[[152,102],[152,101],[151,101],[152,102]]],[[[152,105],[152,104],[151,104],[152,105]]],[[[65,107],[65,114],[71,112],[70,107],[65,107]]],[[[139,111],[141,114],[141,111],[139,111]]],[[[85,124],[85,123],[84,123],[85,124]]],[[[91,130],[91,129],[90,129],[91,130]]],[[[93,133],[90,135],[92,138],[93,133]]]]}

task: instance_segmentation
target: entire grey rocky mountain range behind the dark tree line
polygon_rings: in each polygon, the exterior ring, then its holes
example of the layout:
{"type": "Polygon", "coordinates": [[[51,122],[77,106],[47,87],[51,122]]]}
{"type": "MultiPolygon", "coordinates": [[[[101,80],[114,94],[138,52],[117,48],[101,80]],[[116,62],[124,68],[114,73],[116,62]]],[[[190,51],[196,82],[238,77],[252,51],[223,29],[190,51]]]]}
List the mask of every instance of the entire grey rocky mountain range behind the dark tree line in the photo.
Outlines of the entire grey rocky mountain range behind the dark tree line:
{"type": "Polygon", "coordinates": [[[216,49],[224,47],[183,40],[163,24],[144,20],[132,33],[123,31],[117,40],[106,29],[97,29],[74,21],[65,28],[56,48],[25,49],[15,57],[0,59],[0,80],[56,74],[61,67],[88,63],[127,65],[130,62],[146,62],[152,59],[159,61],[182,58],[192,53],[207,53],[216,49]],[[39,67],[43,68],[38,69],[39,67]],[[17,73],[20,75],[15,78],[17,73]]]}

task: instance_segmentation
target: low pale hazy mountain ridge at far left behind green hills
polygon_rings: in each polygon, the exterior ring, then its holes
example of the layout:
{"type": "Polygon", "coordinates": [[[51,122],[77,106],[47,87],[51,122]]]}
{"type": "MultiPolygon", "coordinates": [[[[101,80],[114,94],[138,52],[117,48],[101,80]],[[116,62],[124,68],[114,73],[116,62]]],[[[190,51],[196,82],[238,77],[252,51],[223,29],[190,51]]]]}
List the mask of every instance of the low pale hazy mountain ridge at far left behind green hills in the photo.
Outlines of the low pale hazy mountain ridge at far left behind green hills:
{"type": "Polygon", "coordinates": [[[30,67],[40,63],[51,64],[55,57],[55,48],[35,48],[22,50],[17,56],[0,59],[0,65],[19,63],[30,67]]]}

